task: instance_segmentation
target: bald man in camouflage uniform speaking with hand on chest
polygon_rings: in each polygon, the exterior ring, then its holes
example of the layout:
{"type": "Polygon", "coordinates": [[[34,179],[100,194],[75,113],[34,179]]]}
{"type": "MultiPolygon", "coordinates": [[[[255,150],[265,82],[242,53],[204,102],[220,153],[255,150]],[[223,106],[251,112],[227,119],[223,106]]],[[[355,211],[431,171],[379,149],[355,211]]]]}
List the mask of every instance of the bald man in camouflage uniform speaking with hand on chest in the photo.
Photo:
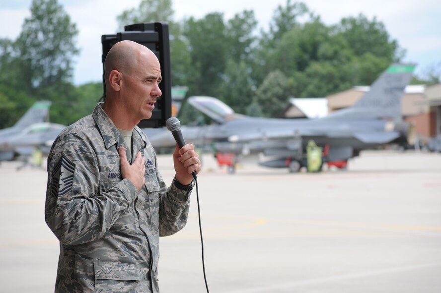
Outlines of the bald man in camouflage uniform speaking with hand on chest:
{"type": "Polygon", "coordinates": [[[187,222],[194,146],[176,146],[167,188],[156,154],[136,126],[161,95],[160,64],[121,41],[104,62],[106,97],[68,126],[48,157],[45,219],[60,240],[55,292],[159,292],[159,236],[187,222]]]}

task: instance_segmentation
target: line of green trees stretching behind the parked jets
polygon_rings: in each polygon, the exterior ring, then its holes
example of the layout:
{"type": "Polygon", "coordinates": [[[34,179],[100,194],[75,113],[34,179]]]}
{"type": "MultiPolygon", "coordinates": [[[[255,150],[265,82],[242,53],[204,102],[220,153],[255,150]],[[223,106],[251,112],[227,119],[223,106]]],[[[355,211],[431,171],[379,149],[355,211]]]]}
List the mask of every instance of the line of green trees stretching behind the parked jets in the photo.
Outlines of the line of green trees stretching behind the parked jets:
{"type": "MultiPolygon", "coordinates": [[[[133,23],[168,22],[172,85],[251,116],[275,117],[290,97],[370,85],[405,56],[381,21],[363,14],[326,25],[305,3],[287,0],[269,28],[259,30],[253,10],[231,19],[212,12],[176,21],[172,7],[172,0],[141,0],[118,15],[120,31],[133,23]]],[[[102,95],[101,81],[72,82],[78,29],[58,0],[33,0],[30,12],[15,40],[0,39],[0,128],[36,100],[52,101],[52,122],[70,124],[91,113],[102,95]]],[[[439,76],[414,82],[433,84],[439,76]]],[[[184,110],[184,120],[195,117],[184,110]]]]}

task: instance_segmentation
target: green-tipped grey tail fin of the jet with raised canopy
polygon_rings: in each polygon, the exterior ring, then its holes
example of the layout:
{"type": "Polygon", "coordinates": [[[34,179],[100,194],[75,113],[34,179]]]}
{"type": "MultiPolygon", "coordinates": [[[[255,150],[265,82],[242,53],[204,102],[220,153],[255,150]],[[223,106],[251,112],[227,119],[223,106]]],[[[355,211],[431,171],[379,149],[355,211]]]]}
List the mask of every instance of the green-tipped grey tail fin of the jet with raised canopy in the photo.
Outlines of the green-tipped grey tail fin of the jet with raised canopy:
{"type": "Polygon", "coordinates": [[[415,66],[391,64],[352,107],[331,113],[330,117],[400,118],[401,98],[415,66]]]}

